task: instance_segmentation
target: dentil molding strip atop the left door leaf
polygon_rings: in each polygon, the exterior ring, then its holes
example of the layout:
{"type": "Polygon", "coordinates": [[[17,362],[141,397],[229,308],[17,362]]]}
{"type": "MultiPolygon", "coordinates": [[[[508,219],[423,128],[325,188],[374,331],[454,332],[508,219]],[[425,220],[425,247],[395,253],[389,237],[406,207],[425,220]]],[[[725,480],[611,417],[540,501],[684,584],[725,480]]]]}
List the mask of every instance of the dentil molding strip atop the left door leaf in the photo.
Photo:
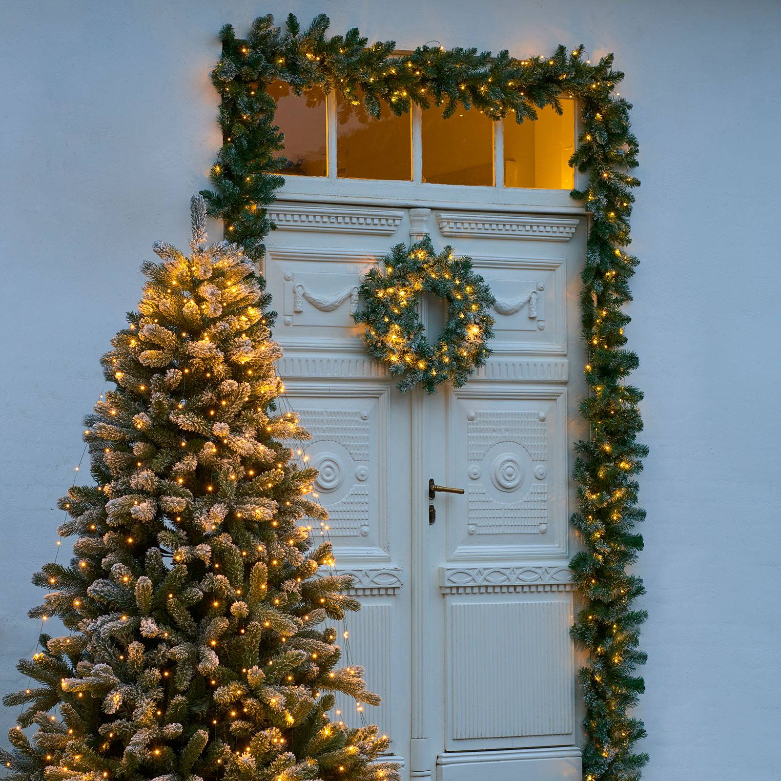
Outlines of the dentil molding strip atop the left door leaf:
{"type": "Polygon", "coordinates": [[[268,213],[276,230],[318,230],[323,233],[380,236],[394,234],[404,216],[400,209],[279,203],[269,206],[268,213]]]}

